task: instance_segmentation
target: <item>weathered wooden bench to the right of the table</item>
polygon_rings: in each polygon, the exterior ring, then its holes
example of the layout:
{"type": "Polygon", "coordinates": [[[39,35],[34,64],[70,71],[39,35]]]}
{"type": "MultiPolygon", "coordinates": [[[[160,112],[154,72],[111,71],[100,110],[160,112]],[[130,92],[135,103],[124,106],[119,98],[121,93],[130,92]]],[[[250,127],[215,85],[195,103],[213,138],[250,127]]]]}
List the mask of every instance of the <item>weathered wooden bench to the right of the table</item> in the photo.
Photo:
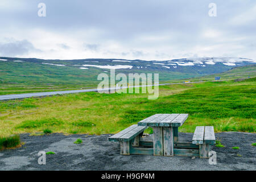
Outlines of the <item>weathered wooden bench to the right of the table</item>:
{"type": "Polygon", "coordinates": [[[213,126],[197,126],[192,143],[199,145],[200,158],[209,158],[210,145],[215,143],[213,126]]]}

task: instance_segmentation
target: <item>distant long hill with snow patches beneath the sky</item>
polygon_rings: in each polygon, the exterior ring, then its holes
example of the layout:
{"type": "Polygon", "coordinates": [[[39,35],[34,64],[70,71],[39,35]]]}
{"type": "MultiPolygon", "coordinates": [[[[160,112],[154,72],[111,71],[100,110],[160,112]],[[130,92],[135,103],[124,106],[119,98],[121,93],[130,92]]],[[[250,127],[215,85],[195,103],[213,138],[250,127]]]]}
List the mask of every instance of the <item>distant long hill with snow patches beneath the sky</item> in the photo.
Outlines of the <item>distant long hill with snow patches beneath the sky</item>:
{"type": "Polygon", "coordinates": [[[159,80],[167,81],[208,76],[255,63],[254,60],[241,57],[201,57],[166,61],[0,57],[0,84],[93,86],[98,82],[97,75],[108,73],[109,68],[115,68],[116,73],[159,73],[159,80]]]}

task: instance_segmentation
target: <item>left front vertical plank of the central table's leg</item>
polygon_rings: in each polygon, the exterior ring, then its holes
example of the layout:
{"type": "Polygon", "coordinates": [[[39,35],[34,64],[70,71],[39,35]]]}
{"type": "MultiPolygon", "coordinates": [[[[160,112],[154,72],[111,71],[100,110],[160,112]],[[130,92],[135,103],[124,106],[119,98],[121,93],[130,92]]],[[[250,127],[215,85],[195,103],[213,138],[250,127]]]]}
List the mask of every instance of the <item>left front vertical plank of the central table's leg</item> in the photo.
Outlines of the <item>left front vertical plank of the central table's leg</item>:
{"type": "Polygon", "coordinates": [[[153,127],[154,155],[163,155],[163,127],[153,127]]]}

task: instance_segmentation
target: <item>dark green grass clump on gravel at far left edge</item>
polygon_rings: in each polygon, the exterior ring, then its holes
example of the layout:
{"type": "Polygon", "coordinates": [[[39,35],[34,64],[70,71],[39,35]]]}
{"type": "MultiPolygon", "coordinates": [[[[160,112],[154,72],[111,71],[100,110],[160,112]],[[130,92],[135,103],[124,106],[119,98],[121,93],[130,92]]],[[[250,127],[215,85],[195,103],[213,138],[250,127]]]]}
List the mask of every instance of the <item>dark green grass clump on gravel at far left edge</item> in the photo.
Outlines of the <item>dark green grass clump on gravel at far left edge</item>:
{"type": "Polygon", "coordinates": [[[19,135],[13,135],[10,137],[0,137],[0,150],[5,148],[14,148],[20,145],[19,135]]]}

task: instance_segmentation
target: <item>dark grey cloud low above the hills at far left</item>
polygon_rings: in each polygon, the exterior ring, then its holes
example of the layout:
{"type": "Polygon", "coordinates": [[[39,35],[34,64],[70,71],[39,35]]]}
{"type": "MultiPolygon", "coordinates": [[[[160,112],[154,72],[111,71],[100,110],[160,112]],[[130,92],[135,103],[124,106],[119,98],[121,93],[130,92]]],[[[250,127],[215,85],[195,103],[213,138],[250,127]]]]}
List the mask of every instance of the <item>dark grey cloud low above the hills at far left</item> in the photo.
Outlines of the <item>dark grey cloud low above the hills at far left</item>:
{"type": "Polygon", "coordinates": [[[2,56],[20,56],[31,51],[40,52],[40,50],[36,49],[28,40],[0,43],[0,54],[2,56]]]}

